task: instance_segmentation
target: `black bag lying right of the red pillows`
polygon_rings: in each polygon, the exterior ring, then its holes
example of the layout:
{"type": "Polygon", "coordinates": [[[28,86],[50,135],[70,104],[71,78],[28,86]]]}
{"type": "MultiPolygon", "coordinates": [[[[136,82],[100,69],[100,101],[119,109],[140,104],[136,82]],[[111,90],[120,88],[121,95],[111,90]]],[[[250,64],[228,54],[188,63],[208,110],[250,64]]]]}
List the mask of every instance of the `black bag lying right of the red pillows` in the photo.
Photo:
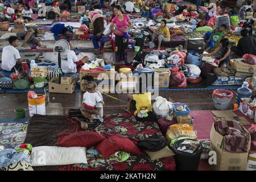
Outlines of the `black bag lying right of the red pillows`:
{"type": "Polygon", "coordinates": [[[137,146],[143,151],[156,152],[167,146],[167,142],[164,138],[154,134],[149,138],[140,140],[137,146]]]}

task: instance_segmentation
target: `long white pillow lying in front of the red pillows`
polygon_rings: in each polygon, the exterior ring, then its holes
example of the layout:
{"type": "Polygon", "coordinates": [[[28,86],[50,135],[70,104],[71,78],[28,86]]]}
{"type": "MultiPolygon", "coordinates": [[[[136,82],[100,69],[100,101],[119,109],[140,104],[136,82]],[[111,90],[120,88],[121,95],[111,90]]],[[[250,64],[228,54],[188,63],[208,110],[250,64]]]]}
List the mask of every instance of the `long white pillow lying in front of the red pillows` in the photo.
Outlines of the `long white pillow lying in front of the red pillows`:
{"type": "Polygon", "coordinates": [[[67,164],[87,164],[85,147],[33,147],[31,166],[59,166],[67,164]]]}

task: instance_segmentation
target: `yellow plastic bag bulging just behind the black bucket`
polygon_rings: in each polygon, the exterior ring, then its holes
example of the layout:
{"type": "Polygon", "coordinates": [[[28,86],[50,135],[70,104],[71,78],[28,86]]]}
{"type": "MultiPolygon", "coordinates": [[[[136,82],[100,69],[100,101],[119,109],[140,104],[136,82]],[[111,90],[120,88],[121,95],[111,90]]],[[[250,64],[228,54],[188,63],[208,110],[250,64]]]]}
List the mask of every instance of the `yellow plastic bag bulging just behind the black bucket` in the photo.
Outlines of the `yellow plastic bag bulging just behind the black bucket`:
{"type": "Polygon", "coordinates": [[[180,137],[196,138],[196,134],[193,131],[193,127],[188,124],[175,124],[168,127],[166,133],[167,142],[180,137]]]}

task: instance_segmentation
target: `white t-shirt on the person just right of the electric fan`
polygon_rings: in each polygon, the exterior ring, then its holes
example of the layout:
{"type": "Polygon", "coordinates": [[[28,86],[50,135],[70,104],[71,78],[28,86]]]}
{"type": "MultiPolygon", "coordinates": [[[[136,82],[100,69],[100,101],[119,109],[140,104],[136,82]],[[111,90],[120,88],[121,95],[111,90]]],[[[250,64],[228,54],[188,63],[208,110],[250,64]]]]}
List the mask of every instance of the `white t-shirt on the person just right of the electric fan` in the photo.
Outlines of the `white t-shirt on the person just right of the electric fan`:
{"type": "Polygon", "coordinates": [[[76,73],[76,62],[79,59],[74,51],[69,51],[67,60],[61,60],[61,69],[63,73],[76,73]]]}

